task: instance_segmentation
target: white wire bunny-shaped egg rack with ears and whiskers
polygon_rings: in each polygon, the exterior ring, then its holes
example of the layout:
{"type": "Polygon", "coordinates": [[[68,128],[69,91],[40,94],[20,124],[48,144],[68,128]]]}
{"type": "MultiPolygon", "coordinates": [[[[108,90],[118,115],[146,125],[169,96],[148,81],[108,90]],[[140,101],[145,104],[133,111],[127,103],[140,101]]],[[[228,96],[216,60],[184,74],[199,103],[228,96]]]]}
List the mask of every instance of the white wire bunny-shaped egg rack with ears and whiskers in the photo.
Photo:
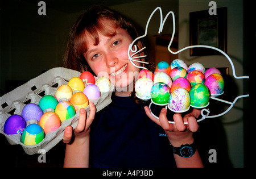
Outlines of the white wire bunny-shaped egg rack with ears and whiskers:
{"type": "MultiPolygon", "coordinates": [[[[237,78],[237,79],[246,79],[246,78],[248,79],[248,78],[249,78],[249,76],[240,76],[240,77],[238,77],[238,76],[236,75],[236,70],[235,70],[235,68],[234,68],[234,64],[233,64],[232,60],[230,59],[230,57],[229,57],[224,51],[221,51],[220,49],[218,49],[218,48],[216,48],[216,47],[212,47],[212,46],[208,46],[208,45],[191,45],[191,46],[182,48],[182,49],[180,49],[180,50],[177,51],[177,52],[171,51],[170,47],[171,47],[172,41],[174,40],[174,35],[175,35],[175,15],[174,15],[174,12],[169,11],[168,14],[165,16],[165,18],[163,19],[163,13],[162,13],[161,7],[156,7],[156,9],[151,13],[150,17],[148,18],[147,24],[146,24],[146,29],[145,29],[145,34],[142,35],[142,36],[139,36],[139,37],[136,38],[136,39],[134,39],[134,41],[130,44],[129,49],[128,49],[128,58],[129,58],[131,64],[133,64],[133,65],[136,66],[137,68],[147,69],[147,68],[145,68],[145,67],[143,67],[143,66],[138,66],[138,65],[135,65],[135,64],[134,64],[134,62],[148,64],[147,62],[144,62],[144,61],[135,60],[135,59],[141,59],[141,58],[146,57],[146,55],[144,55],[144,56],[135,56],[135,55],[137,55],[138,53],[142,52],[146,47],[143,47],[142,49],[139,49],[139,50],[138,50],[137,45],[135,45],[134,43],[135,43],[136,41],[138,41],[139,39],[144,38],[144,37],[147,35],[148,24],[150,23],[150,20],[151,20],[152,16],[153,16],[153,15],[155,14],[155,12],[158,11],[158,10],[159,10],[159,13],[160,13],[160,27],[159,27],[158,34],[160,34],[160,33],[163,31],[164,23],[166,22],[166,19],[168,18],[168,16],[169,16],[170,14],[172,15],[173,31],[172,31],[172,37],[171,37],[170,43],[169,43],[169,45],[168,45],[168,51],[170,51],[172,54],[180,53],[180,52],[185,51],[186,49],[189,49],[189,48],[198,48],[198,47],[201,47],[201,48],[210,48],[210,49],[214,49],[214,50],[216,50],[216,51],[222,53],[222,55],[224,55],[224,56],[226,57],[226,59],[229,60],[229,63],[230,63],[230,65],[232,66],[232,72],[233,72],[234,78],[237,78]],[[134,49],[133,49],[133,48],[134,48],[134,49]],[[131,53],[132,53],[132,55],[131,55],[131,53]]],[[[217,115],[212,115],[212,116],[209,115],[210,111],[209,111],[208,109],[203,109],[203,110],[201,110],[202,118],[201,118],[201,119],[198,119],[197,122],[200,122],[201,120],[204,120],[204,119],[206,119],[206,118],[217,118],[217,117],[220,117],[220,116],[222,116],[222,115],[228,113],[228,111],[229,111],[230,109],[232,109],[232,107],[234,106],[234,104],[237,102],[238,99],[240,99],[240,98],[245,98],[245,97],[249,97],[249,94],[246,94],[246,95],[239,95],[238,97],[236,97],[236,98],[234,99],[233,102],[229,102],[229,101],[225,101],[225,100],[223,100],[223,99],[220,99],[220,98],[216,98],[216,97],[212,97],[212,96],[211,96],[211,97],[210,97],[211,99],[214,99],[214,100],[216,100],[216,101],[220,101],[220,102],[226,103],[226,104],[230,105],[230,107],[229,107],[226,111],[224,111],[223,113],[217,114],[217,115]],[[206,112],[207,114],[204,114],[205,112],[206,112]]],[[[151,102],[150,105],[149,105],[150,110],[151,110],[151,105],[152,105],[152,102],[151,102]]],[[[167,109],[167,106],[166,106],[166,109],[167,109]]],[[[152,114],[153,116],[155,116],[155,118],[159,119],[158,116],[156,116],[156,115],[154,115],[154,114],[152,113],[152,111],[151,111],[151,114],[152,114]]],[[[172,122],[172,121],[168,121],[168,122],[169,122],[169,123],[174,123],[174,122],[172,122]]],[[[184,122],[184,124],[187,124],[187,122],[184,122]]]]}

